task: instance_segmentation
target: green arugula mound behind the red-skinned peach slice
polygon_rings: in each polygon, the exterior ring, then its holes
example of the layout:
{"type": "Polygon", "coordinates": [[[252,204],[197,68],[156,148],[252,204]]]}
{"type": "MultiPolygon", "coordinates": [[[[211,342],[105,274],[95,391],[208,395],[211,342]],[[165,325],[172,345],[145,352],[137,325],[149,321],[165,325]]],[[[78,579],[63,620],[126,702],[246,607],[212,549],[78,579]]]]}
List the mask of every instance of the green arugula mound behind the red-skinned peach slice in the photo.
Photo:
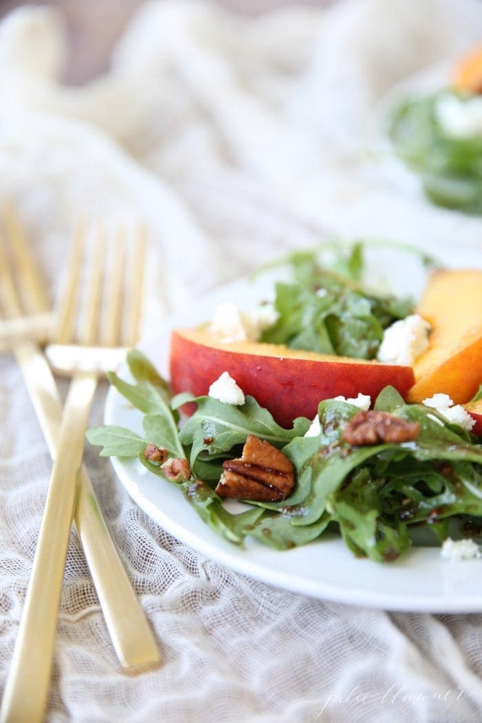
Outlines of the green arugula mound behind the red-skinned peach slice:
{"type": "Polygon", "coordinates": [[[376,294],[361,283],[363,252],[355,244],[330,268],[314,252],[289,258],[293,281],[275,284],[277,322],[259,341],[320,354],[375,359],[384,330],[413,311],[410,299],[376,294]]]}

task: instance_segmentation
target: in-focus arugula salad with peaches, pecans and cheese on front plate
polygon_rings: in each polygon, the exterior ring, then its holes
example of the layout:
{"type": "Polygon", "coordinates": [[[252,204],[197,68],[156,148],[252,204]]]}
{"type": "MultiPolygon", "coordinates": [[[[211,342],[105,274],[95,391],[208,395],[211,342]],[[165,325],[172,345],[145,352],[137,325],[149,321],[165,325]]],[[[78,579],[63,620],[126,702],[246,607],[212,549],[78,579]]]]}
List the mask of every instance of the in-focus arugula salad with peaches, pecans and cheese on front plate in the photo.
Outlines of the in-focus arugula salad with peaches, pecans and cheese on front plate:
{"type": "Polygon", "coordinates": [[[329,264],[293,254],[274,299],[173,331],[170,382],[131,351],[130,379],[109,378],[142,435],[90,442],[174,484],[234,544],[335,531],[378,562],[421,541],[478,555],[482,271],[433,270],[415,305],[366,286],[363,265],[361,244],[329,264]]]}

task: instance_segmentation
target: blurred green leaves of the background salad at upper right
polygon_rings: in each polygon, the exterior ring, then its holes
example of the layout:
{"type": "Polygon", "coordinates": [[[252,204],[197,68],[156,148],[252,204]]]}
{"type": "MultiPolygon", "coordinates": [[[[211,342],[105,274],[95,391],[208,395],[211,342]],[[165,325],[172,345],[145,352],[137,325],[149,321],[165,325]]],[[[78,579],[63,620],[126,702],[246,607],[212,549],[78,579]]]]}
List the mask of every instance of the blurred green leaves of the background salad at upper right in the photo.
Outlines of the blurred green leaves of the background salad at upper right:
{"type": "Polygon", "coordinates": [[[482,213],[482,136],[447,134],[437,106],[448,96],[460,103],[473,98],[444,90],[401,104],[390,121],[390,140],[395,153],[419,174],[424,192],[434,203],[482,213]]]}

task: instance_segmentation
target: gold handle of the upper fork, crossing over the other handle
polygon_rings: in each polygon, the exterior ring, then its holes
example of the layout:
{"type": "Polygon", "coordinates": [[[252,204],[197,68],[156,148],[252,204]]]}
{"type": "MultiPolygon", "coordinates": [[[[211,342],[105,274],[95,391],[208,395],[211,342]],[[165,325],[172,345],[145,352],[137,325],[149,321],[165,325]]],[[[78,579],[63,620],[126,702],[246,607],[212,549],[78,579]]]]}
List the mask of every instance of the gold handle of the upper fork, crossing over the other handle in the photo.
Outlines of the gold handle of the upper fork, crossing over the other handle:
{"type": "Polygon", "coordinates": [[[98,377],[72,379],[62,416],[25,606],[5,686],[2,717],[42,721],[51,675],[62,578],[82,463],[85,427],[98,377]]]}

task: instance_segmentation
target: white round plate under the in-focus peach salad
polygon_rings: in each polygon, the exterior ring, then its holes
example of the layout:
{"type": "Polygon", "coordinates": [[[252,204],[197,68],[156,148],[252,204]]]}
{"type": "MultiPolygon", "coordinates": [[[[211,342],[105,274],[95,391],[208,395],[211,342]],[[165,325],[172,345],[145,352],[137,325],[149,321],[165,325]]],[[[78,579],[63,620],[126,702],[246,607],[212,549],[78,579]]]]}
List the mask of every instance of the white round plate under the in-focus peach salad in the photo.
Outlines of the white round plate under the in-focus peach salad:
{"type": "MultiPolygon", "coordinates": [[[[408,269],[409,257],[406,262],[408,269]]],[[[454,259],[452,262],[460,265],[454,259]]],[[[473,266],[482,268],[482,254],[473,259],[473,266]]],[[[400,263],[396,269],[398,278],[416,278],[414,273],[403,273],[400,263]]],[[[254,284],[241,280],[218,288],[199,300],[195,308],[172,317],[165,328],[139,348],[165,374],[171,328],[206,320],[214,305],[223,299],[243,302],[246,307],[247,298],[252,303],[264,298],[267,286],[271,288],[271,281],[262,278],[254,284]]],[[[141,419],[141,414],[111,388],[106,424],[142,432],[141,419]]],[[[451,562],[442,560],[439,548],[413,548],[396,562],[377,564],[353,557],[337,536],[324,536],[305,547],[286,551],[250,539],[244,548],[236,547],[212,532],[173,484],[150,475],[137,461],[114,458],[113,466],[132,499],[160,526],[205,557],[240,573],[298,593],[366,607],[420,612],[482,610],[482,560],[451,562]]]]}

